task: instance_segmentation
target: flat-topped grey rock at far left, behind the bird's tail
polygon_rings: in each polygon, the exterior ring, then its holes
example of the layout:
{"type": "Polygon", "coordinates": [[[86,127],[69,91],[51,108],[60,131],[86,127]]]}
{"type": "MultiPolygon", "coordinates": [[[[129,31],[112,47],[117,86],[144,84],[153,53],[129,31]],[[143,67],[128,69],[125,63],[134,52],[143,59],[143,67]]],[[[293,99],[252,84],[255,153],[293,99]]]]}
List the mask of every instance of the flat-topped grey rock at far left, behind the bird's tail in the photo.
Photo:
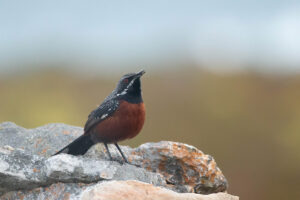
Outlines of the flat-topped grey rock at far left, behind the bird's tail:
{"type": "Polygon", "coordinates": [[[60,123],[25,129],[12,122],[4,122],[0,124],[0,147],[9,145],[29,154],[48,157],[82,135],[82,132],[80,127],[60,123]]]}

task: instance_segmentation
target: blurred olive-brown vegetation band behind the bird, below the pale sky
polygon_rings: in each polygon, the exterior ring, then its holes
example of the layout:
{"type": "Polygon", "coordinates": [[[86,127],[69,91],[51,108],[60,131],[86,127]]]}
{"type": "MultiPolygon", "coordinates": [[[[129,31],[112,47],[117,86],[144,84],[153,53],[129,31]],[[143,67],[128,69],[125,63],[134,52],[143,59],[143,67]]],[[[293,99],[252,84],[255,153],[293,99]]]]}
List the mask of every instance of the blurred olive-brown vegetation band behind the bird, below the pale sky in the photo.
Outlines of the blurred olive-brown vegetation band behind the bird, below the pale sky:
{"type": "MultiPolygon", "coordinates": [[[[121,76],[121,74],[120,74],[121,76]]],[[[83,126],[117,76],[46,70],[0,78],[0,121],[83,126]]],[[[148,72],[144,129],[123,144],[172,140],[211,154],[242,199],[300,197],[300,75],[148,72]]]]}

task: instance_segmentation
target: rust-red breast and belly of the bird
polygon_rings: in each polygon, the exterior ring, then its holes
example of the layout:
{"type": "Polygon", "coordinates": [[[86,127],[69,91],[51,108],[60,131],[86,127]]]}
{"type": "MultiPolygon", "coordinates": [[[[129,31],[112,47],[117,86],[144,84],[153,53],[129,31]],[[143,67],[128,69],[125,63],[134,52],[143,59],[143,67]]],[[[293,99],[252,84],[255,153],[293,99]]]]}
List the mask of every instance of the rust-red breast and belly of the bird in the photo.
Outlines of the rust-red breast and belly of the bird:
{"type": "Polygon", "coordinates": [[[144,103],[121,101],[118,110],[96,125],[90,134],[96,142],[118,142],[135,137],[142,130],[144,122],[144,103]]]}

